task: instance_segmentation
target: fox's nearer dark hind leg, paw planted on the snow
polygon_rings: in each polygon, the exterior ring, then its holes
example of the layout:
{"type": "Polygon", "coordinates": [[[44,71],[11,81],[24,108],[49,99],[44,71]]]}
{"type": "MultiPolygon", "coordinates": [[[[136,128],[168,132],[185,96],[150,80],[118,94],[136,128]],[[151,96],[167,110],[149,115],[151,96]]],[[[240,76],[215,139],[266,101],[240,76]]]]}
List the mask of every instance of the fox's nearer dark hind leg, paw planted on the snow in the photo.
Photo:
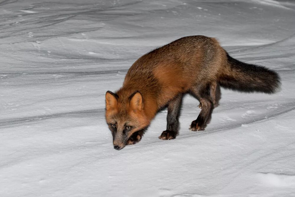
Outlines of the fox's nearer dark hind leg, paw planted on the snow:
{"type": "Polygon", "coordinates": [[[204,130],[207,124],[211,120],[214,104],[211,100],[211,85],[207,86],[194,86],[191,89],[191,93],[200,101],[202,110],[198,115],[198,118],[191,123],[191,131],[204,130]]]}

